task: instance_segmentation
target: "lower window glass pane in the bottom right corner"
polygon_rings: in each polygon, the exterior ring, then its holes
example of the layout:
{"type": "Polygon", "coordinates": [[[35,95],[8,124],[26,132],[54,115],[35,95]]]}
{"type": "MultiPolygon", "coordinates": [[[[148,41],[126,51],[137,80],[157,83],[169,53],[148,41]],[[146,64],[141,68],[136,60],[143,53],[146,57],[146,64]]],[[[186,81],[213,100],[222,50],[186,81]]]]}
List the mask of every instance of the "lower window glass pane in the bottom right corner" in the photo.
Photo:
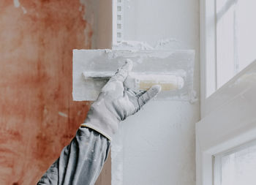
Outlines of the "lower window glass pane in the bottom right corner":
{"type": "Polygon", "coordinates": [[[222,156],[221,185],[256,184],[256,146],[222,156]]]}

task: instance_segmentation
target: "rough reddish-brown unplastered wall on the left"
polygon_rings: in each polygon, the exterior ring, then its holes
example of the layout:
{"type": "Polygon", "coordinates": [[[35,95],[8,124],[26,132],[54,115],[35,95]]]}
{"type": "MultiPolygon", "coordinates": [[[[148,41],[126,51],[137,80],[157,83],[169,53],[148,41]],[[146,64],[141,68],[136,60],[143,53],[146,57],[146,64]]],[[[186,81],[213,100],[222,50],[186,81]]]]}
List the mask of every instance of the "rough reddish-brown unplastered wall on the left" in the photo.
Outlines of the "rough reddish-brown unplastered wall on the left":
{"type": "Polygon", "coordinates": [[[90,48],[79,0],[0,1],[0,184],[36,184],[86,117],[72,49],[90,48]]]}

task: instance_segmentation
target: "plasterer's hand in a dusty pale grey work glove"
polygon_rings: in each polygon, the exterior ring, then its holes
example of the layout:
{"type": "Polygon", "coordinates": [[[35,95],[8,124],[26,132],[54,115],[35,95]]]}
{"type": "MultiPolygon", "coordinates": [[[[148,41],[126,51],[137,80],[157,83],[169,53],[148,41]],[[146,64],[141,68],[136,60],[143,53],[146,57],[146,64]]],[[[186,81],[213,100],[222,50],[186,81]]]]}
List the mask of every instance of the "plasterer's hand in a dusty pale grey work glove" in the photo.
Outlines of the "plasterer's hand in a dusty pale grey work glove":
{"type": "Polygon", "coordinates": [[[111,140],[118,130],[118,124],[135,114],[150,99],[157,96],[161,86],[152,86],[148,91],[133,91],[124,86],[124,80],[132,69],[132,61],[120,67],[102,88],[97,100],[91,105],[86,121],[81,127],[89,127],[111,140]]]}

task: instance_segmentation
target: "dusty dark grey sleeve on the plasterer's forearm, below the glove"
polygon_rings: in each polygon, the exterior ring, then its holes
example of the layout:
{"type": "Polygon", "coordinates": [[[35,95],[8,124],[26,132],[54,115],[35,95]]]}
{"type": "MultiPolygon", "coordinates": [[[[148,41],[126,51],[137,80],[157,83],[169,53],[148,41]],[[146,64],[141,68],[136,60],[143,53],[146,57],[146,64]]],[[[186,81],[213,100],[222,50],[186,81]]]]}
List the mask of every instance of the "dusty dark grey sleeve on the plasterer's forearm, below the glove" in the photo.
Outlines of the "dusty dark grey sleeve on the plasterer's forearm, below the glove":
{"type": "Polygon", "coordinates": [[[80,127],[75,137],[37,183],[93,185],[108,157],[110,141],[99,132],[80,127]]]}

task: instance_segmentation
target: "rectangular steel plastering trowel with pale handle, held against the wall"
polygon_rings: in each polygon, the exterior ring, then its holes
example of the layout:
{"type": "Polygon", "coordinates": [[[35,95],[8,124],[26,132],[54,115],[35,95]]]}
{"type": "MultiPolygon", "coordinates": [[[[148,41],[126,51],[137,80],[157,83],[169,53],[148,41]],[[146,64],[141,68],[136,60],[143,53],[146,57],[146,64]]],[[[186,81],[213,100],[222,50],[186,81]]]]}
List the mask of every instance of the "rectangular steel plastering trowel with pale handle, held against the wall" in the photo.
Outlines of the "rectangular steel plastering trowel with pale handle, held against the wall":
{"type": "Polygon", "coordinates": [[[124,85],[162,86],[157,99],[192,100],[194,50],[73,50],[73,99],[94,101],[118,67],[133,61],[124,85]]]}

